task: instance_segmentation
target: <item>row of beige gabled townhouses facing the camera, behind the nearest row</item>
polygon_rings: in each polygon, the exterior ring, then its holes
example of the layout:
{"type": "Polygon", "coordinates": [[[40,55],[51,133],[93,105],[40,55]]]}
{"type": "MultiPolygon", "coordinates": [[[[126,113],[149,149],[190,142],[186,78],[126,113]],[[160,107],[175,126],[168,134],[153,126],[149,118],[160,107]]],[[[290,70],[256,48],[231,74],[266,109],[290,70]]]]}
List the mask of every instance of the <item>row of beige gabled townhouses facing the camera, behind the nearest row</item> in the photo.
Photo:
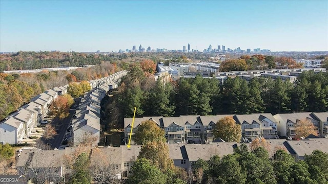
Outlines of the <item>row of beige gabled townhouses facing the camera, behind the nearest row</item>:
{"type": "MultiPolygon", "coordinates": [[[[209,143],[215,137],[213,129],[216,122],[224,117],[233,117],[235,122],[241,126],[242,141],[248,142],[256,137],[265,139],[279,139],[286,137],[292,139],[298,121],[311,121],[320,137],[328,137],[328,112],[294,112],[285,114],[254,113],[254,114],[220,114],[216,116],[180,116],[180,117],[143,117],[135,118],[132,128],[132,118],[124,119],[125,142],[131,133],[137,131],[138,126],[147,120],[154,121],[158,127],[165,130],[168,143],[209,143]]],[[[216,137],[218,138],[218,137],[216,137]]],[[[131,144],[134,144],[132,141],[131,144]]]]}

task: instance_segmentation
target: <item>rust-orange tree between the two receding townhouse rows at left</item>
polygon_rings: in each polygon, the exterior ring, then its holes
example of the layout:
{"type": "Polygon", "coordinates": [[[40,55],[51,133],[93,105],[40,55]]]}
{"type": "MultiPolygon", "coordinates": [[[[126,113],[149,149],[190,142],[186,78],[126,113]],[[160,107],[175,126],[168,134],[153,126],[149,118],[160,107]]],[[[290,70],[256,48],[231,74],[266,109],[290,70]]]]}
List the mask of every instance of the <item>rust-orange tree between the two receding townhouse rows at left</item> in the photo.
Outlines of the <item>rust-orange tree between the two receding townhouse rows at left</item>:
{"type": "Polygon", "coordinates": [[[50,103],[48,114],[64,119],[69,116],[69,109],[72,104],[73,99],[70,95],[59,96],[50,103]]]}

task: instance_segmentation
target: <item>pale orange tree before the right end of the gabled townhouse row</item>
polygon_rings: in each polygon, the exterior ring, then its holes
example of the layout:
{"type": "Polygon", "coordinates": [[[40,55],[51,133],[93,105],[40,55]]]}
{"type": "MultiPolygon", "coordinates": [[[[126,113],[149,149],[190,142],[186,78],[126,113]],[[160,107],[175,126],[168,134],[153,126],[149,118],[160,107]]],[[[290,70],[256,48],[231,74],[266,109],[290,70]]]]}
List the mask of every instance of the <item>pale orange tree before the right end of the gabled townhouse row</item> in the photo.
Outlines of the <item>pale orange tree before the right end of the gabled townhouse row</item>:
{"type": "Polygon", "coordinates": [[[310,120],[300,120],[297,122],[297,127],[295,129],[296,137],[307,137],[310,134],[318,136],[316,126],[310,120]]]}

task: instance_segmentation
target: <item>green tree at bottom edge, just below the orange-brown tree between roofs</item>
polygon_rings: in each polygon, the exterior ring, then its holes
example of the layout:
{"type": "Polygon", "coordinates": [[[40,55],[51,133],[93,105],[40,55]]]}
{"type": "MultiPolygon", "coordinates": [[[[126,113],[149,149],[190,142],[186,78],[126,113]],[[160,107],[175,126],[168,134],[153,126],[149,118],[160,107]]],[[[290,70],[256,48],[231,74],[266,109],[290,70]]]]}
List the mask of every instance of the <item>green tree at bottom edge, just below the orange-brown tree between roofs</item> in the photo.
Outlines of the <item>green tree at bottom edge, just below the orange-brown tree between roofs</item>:
{"type": "Polygon", "coordinates": [[[133,172],[133,175],[129,177],[128,183],[166,183],[166,175],[163,174],[146,158],[139,158],[135,160],[133,166],[131,167],[131,170],[133,172]]]}

